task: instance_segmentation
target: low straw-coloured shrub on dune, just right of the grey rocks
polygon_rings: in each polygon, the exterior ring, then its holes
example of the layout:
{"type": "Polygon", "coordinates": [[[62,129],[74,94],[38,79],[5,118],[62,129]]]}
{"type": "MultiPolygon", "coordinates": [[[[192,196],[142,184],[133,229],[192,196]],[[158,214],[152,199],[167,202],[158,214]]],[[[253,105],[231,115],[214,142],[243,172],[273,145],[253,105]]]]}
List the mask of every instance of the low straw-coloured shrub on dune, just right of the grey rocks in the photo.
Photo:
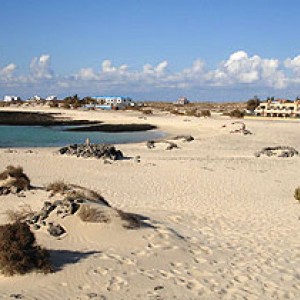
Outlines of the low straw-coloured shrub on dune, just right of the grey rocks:
{"type": "Polygon", "coordinates": [[[78,216],[83,222],[108,223],[111,221],[105,210],[88,204],[80,206],[78,216]]]}

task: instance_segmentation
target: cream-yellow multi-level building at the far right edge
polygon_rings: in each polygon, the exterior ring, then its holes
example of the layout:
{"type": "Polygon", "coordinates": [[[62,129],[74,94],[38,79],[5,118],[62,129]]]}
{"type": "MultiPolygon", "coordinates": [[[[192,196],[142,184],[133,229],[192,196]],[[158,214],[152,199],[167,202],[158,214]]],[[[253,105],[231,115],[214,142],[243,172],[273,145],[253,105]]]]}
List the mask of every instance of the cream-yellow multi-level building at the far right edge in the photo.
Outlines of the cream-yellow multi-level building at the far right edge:
{"type": "Polygon", "coordinates": [[[276,99],[261,102],[254,110],[255,116],[300,118],[300,100],[276,99]]]}

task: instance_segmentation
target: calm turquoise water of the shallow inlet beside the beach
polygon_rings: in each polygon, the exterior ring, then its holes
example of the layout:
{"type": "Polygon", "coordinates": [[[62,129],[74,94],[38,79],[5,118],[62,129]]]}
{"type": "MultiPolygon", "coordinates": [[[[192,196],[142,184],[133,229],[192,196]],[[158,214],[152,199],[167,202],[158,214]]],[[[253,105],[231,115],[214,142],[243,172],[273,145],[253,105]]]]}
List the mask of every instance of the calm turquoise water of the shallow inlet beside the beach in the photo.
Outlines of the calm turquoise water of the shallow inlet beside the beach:
{"type": "Polygon", "coordinates": [[[75,132],[62,127],[0,126],[0,148],[7,147],[60,147],[67,144],[91,143],[124,144],[143,142],[162,137],[158,131],[142,132],[75,132]]]}

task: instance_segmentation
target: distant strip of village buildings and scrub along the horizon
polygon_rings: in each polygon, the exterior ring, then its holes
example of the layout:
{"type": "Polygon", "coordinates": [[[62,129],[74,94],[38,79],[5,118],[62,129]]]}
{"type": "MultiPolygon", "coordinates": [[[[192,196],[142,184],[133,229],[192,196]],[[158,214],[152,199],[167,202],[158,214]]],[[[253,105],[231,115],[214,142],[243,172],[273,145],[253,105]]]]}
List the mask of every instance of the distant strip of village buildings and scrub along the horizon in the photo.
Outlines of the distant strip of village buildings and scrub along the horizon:
{"type": "Polygon", "coordinates": [[[268,97],[260,100],[256,96],[245,102],[192,102],[181,96],[173,102],[134,101],[128,96],[93,96],[79,98],[77,94],[59,99],[55,95],[32,96],[23,100],[19,96],[4,96],[0,106],[49,106],[51,108],[84,110],[142,110],[170,112],[177,115],[210,116],[210,113],[233,114],[238,117],[300,118],[300,99],[288,100],[268,97]]]}

